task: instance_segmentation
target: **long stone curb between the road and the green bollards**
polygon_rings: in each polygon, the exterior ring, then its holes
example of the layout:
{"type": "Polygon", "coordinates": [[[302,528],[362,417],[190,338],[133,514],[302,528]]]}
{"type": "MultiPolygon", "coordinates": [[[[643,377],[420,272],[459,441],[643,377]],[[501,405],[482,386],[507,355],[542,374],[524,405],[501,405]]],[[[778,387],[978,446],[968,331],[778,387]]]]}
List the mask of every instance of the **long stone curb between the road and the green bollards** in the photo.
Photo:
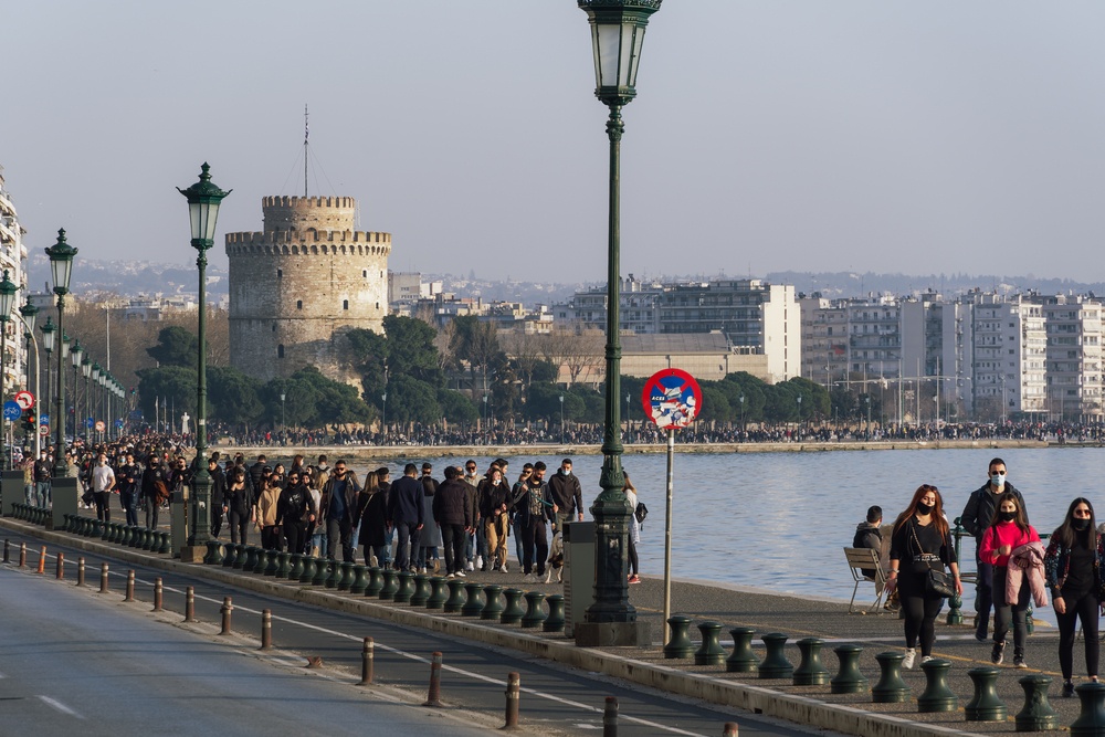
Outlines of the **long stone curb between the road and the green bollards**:
{"type": "MultiPolygon", "coordinates": [[[[429,630],[514,650],[561,665],[621,678],[636,685],[698,698],[718,706],[740,708],[804,726],[831,729],[857,737],[977,735],[977,733],[940,725],[917,723],[901,716],[871,713],[854,706],[829,704],[815,698],[780,693],[766,686],[734,683],[714,677],[712,674],[686,673],[675,667],[648,663],[618,652],[578,647],[569,640],[556,641],[547,636],[543,638],[519,630],[506,629],[509,625],[484,624],[478,620],[451,618],[424,609],[401,609],[394,604],[377,603],[376,600],[365,597],[356,598],[355,594],[348,592],[317,589],[306,583],[284,579],[256,578],[220,566],[182,564],[164,556],[154,556],[131,548],[103,544],[98,539],[44,530],[36,525],[12,518],[0,518],[0,527],[117,560],[139,564],[148,568],[203,578],[287,601],[325,607],[403,627],[429,630]]],[[[634,649],[621,650],[632,652],[634,649]]]]}

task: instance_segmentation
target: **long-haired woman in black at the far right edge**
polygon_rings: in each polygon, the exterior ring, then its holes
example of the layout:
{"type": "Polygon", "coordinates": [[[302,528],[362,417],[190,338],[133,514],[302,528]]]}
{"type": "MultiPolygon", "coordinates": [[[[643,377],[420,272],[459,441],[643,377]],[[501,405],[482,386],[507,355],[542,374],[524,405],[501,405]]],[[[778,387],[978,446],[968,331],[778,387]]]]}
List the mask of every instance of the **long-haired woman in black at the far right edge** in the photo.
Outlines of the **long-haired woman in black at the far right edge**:
{"type": "Polygon", "coordinates": [[[1094,506],[1078,497],[1071,502],[1063,524],[1055,528],[1043,557],[1044,575],[1059,622],[1059,666],[1063,697],[1074,696],[1074,634],[1082,620],[1086,645],[1086,675],[1097,681],[1101,645],[1097,613],[1105,602],[1105,537],[1097,534],[1094,506]]]}

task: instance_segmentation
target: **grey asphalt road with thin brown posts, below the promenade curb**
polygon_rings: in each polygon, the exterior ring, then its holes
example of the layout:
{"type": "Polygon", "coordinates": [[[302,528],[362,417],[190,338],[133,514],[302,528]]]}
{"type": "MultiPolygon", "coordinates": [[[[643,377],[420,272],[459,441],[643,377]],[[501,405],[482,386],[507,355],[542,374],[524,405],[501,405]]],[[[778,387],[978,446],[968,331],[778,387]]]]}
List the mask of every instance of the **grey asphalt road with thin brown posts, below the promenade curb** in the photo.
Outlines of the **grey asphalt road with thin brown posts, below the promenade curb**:
{"type": "MultiPolygon", "coordinates": [[[[21,538],[8,537],[18,549],[21,538]]],[[[183,734],[186,728],[202,734],[203,727],[225,731],[228,724],[235,725],[235,734],[323,729],[365,735],[393,733],[420,719],[429,722],[417,726],[432,728],[431,734],[474,734],[470,726],[485,734],[503,725],[512,671],[522,676],[523,727],[532,734],[601,733],[607,696],[618,699],[622,735],[716,736],[727,722],[736,722],[745,737],[825,734],[424,630],[160,570],[135,568],[137,601],[125,602],[130,566],[51,547],[46,573],[38,576],[33,570],[41,541],[27,541],[25,571],[14,570],[14,554],[11,565],[0,567],[6,594],[0,615],[11,633],[0,647],[0,735],[28,734],[25,726],[32,724],[41,735],[69,735],[75,728],[87,735],[183,734]],[[66,559],[64,581],[54,578],[59,550],[66,559]],[[86,558],[83,589],[75,586],[78,555],[86,558]],[[110,591],[101,594],[104,560],[110,567],[110,591]],[[152,613],[158,576],[164,578],[166,611],[152,613]],[[197,624],[182,623],[188,586],[196,590],[197,624]],[[218,634],[227,596],[233,600],[230,638],[218,634]],[[264,609],[272,610],[272,653],[257,650],[264,609]],[[355,685],[365,636],[375,640],[371,687],[355,685]],[[442,709],[421,706],[434,651],[444,661],[442,709]],[[308,656],[322,657],[323,667],[305,668],[308,656]],[[239,674],[238,668],[245,671],[239,674]]]]}

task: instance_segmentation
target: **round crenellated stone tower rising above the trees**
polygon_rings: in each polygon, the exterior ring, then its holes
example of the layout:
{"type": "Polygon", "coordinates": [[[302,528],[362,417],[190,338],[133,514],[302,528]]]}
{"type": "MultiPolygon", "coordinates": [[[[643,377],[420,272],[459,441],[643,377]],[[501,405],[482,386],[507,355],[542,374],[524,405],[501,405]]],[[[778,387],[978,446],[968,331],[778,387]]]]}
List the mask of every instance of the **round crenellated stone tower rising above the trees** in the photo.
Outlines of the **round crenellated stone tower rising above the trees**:
{"type": "Polygon", "coordinates": [[[262,381],[305,366],[358,383],[352,328],[383,333],[391,234],[355,230],[351,197],[265,197],[264,231],[228,233],[230,361],[262,381]]]}

